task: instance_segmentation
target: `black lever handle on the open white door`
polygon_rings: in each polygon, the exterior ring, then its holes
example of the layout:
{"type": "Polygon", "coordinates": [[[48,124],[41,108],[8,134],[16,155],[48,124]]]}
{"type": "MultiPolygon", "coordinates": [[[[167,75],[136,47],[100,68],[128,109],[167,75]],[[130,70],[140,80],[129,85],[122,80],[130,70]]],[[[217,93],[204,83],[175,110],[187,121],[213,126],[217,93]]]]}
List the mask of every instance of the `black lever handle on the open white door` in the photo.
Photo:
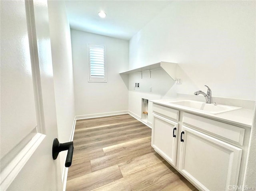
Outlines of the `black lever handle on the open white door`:
{"type": "Polygon", "coordinates": [[[73,157],[73,151],[74,151],[73,141],[60,143],[58,139],[55,138],[52,144],[52,158],[55,160],[58,157],[58,154],[65,150],[68,150],[65,167],[70,167],[72,163],[72,157],[73,157]]]}

